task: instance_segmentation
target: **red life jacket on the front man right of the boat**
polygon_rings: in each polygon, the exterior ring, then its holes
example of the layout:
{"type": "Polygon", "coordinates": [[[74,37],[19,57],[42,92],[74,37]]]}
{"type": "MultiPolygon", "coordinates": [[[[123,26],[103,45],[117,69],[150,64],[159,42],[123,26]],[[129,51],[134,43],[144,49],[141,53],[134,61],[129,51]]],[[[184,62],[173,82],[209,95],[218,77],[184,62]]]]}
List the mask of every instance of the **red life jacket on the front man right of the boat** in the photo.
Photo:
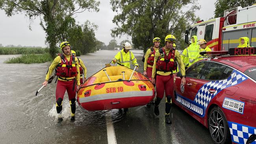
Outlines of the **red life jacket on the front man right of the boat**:
{"type": "Polygon", "coordinates": [[[177,69],[177,63],[175,61],[175,50],[170,50],[168,56],[164,48],[159,49],[160,56],[156,61],[156,69],[160,72],[172,72],[177,69]]]}

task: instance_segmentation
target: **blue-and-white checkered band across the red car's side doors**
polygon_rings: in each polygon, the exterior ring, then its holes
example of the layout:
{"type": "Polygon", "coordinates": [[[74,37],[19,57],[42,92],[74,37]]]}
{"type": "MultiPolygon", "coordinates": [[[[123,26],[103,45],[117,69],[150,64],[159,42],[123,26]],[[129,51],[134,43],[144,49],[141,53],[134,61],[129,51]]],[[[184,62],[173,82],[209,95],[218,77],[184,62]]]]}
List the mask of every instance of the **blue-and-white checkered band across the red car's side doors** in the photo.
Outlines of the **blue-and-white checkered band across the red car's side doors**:
{"type": "Polygon", "coordinates": [[[233,70],[232,74],[227,78],[219,81],[210,81],[204,84],[200,90],[198,90],[197,95],[195,97],[195,102],[203,107],[207,107],[210,103],[211,99],[216,96],[221,90],[226,89],[230,86],[237,85],[242,81],[245,81],[247,77],[243,75],[241,72],[233,70]],[[210,93],[209,89],[215,89],[214,93],[210,93]]]}

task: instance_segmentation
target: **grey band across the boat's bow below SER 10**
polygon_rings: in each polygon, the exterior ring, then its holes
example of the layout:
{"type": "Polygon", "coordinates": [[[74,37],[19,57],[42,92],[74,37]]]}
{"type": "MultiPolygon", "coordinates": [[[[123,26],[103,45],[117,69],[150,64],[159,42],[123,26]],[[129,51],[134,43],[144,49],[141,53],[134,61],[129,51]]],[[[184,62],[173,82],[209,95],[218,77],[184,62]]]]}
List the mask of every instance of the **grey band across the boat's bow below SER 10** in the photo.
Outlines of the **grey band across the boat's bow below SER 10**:
{"type": "Polygon", "coordinates": [[[130,92],[117,92],[117,93],[109,93],[109,94],[97,94],[94,96],[88,96],[84,98],[79,98],[80,103],[86,102],[94,102],[98,100],[108,100],[114,98],[131,98],[138,96],[152,96],[153,92],[150,91],[130,91],[130,92]]]}

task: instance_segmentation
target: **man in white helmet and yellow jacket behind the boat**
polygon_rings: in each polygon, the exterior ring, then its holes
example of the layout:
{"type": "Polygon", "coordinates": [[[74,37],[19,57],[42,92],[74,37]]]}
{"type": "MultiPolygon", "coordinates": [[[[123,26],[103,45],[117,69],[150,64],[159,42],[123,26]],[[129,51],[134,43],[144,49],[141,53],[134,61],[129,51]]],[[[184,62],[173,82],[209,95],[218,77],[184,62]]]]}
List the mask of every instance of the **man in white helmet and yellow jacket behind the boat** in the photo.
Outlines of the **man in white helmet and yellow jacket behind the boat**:
{"type": "MultiPolygon", "coordinates": [[[[115,57],[112,60],[112,63],[120,63],[121,65],[124,65],[128,68],[130,68],[130,62],[132,61],[132,64],[136,67],[136,70],[138,69],[138,63],[136,58],[134,57],[134,54],[130,51],[132,49],[132,46],[129,42],[125,42],[123,44],[123,49],[119,51],[115,57]]],[[[119,65],[119,64],[118,64],[119,65]]]]}

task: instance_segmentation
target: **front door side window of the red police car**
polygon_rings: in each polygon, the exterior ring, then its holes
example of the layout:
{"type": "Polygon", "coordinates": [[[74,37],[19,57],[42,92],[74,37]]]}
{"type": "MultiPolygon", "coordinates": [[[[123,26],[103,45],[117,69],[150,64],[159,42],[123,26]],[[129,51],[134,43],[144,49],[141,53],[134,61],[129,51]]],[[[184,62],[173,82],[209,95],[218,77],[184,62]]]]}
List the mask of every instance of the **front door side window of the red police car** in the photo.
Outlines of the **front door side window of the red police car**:
{"type": "Polygon", "coordinates": [[[199,63],[196,63],[195,65],[189,67],[187,70],[186,70],[186,76],[187,77],[191,77],[191,78],[199,78],[199,74],[200,72],[202,73],[202,70],[203,70],[203,67],[204,65],[206,65],[208,62],[206,61],[202,61],[202,62],[199,62],[199,63]]]}

